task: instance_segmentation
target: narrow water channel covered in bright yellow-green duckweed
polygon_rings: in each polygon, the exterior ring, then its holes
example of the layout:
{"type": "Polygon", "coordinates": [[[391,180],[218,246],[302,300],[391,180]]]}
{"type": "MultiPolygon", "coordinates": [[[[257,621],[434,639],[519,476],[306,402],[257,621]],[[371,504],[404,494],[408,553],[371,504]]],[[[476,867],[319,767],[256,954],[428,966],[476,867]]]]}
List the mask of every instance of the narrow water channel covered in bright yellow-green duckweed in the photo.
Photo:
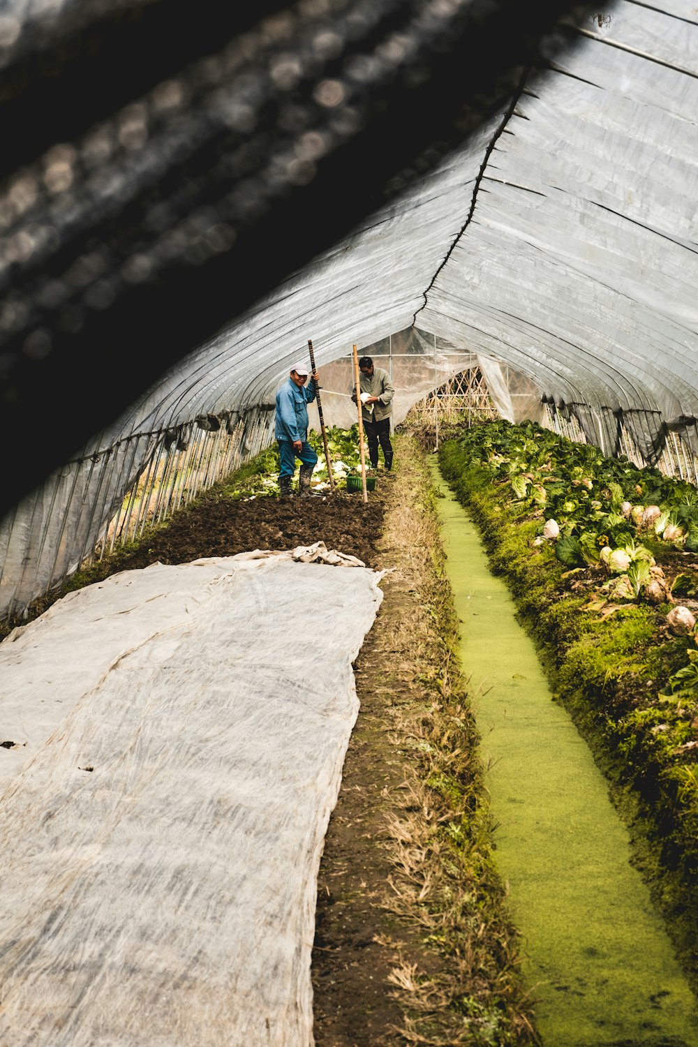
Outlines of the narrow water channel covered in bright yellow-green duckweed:
{"type": "Polygon", "coordinates": [[[696,998],[630,865],[603,776],[553,700],[475,525],[436,469],[434,480],[497,861],[544,1047],[698,1047],[696,998]]]}

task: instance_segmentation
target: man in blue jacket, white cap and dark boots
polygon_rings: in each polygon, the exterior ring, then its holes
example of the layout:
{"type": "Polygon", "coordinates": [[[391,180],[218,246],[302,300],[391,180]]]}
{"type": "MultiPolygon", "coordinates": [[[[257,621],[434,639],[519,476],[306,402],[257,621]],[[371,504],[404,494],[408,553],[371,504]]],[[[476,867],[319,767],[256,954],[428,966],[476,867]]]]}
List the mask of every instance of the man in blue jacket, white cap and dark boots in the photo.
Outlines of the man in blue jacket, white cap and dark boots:
{"type": "Polygon", "coordinates": [[[317,462],[317,454],[308,443],[308,404],[315,399],[319,375],[312,374],[310,386],[306,388],[309,371],[303,363],[294,363],[291,376],[276,394],[276,428],[274,436],[278,444],[280,469],[278,487],[283,498],[291,496],[291,481],[300,459],[298,494],[310,494],[310,478],[317,462]]]}

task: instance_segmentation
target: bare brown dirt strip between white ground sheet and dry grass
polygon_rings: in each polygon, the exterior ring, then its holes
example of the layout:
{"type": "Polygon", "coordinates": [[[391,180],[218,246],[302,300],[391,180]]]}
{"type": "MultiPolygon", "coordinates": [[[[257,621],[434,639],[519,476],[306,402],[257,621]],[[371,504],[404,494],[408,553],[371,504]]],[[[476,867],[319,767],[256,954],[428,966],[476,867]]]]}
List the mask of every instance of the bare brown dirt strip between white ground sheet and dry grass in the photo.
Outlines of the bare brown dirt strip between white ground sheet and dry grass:
{"type": "Polygon", "coordinates": [[[389,820],[413,763],[396,722],[421,694],[419,685],[414,693],[412,680],[389,677],[395,655],[385,642],[386,625],[389,637],[388,623],[395,628],[403,615],[409,616],[414,597],[396,575],[382,587],[379,619],[355,666],[361,710],[318,874],[312,966],[316,1047],[403,1044],[404,1008],[395,992],[395,972],[414,964],[424,976],[434,965],[419,930],[386,906],[395,875],[389,820]]]}

